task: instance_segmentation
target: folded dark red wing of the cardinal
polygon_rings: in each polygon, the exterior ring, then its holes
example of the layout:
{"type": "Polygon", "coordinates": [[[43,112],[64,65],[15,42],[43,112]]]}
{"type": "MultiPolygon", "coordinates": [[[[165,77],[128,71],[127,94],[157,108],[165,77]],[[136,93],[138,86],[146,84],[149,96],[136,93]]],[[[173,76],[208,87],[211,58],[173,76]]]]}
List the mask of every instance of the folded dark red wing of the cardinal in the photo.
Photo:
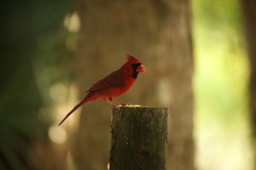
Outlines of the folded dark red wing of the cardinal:
{"type": "Polygon", "coordinates": [[[118,73],[117,71],[114,71],[113,73],[107,75],[106,77],[96,81],[91,86],[91,88],[87,89],[85,92],[99,91],[102,89],[108,89],[108,88],[121,86],[121,83],[122,83],[121,79],[122,79],[122,75],[120,73],[118,73]]]}

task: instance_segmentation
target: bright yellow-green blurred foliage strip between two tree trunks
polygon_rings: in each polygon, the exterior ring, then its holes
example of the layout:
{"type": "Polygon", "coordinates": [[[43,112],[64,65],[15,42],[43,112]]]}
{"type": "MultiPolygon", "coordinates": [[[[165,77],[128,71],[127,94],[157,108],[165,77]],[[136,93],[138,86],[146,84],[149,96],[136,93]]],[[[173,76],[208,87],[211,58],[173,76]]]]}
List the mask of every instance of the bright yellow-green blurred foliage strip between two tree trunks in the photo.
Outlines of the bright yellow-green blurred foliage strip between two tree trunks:
{"type": "Polygon", "coordinates": [[[239,1],[194,0],[193,12],[198,167],[250,169],[249,70],[239,1]]]}

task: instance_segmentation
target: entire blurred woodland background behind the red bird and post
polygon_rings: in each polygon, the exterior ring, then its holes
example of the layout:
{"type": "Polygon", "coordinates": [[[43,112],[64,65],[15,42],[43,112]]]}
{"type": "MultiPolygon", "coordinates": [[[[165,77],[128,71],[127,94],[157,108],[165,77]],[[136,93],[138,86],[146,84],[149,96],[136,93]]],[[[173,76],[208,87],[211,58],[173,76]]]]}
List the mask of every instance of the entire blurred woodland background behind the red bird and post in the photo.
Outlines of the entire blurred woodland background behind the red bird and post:
{"type": "Polygon", "coordinates": [[[170,110],[167,169],[256,169],[253,0],[5,1],[0,169],[106,169],[110,107],[60,120],[125,55],[147,68],[116,100],[170,110]]]}

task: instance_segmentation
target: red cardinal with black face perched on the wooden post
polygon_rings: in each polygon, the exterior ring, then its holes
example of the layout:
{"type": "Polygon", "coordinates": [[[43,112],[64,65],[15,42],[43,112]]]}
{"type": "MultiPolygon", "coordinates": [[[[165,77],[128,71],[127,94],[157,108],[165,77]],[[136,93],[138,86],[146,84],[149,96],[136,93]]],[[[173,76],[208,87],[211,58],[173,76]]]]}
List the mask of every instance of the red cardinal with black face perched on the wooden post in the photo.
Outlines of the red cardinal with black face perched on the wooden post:
{"type": "Polygon", "coordinates": [[[145,72],[146,68],[135,57],[125,56],[127,62],[124,63],[117,71],[107,75],[106,77],[96,81],[91,88],[86,90],[87,95],[80,103],[67,113],[59,125],[61,125],[70,114],[72,114],[82,104],[92,102],[93,100],[102,98],[105,102],[115,106],[114,97],[122,95],[128,91],[134,84],[139,72],[145,72]]]}

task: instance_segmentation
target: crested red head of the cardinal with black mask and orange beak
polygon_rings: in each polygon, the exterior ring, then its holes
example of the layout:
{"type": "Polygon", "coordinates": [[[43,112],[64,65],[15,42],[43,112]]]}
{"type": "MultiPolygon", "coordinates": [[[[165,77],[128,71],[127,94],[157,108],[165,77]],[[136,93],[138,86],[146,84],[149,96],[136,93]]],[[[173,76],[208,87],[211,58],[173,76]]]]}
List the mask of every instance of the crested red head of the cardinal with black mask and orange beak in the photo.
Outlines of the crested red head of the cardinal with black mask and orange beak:
{"type": "Polygon", "coordinates": [[[125,59],[127,60],[125,64],[127,64],[129,73],[132,73],[133,78],[137,78],[139,72],[146,71],[146,68],[135,57],[127,55],[125,59]]]}

